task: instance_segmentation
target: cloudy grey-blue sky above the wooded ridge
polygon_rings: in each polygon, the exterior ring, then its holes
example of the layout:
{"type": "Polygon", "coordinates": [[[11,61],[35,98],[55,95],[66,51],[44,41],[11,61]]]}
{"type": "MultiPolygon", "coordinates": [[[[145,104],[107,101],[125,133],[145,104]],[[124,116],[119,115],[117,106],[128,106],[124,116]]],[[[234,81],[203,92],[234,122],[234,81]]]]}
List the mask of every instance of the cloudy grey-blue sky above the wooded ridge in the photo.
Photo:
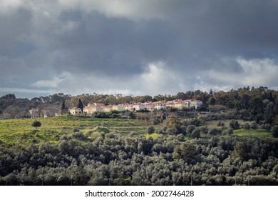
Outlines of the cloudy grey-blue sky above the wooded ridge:
{"type": "Polygon", "coordinates": [[[0,95],[278,89],[277,0],[0,0],[0,95]]]}

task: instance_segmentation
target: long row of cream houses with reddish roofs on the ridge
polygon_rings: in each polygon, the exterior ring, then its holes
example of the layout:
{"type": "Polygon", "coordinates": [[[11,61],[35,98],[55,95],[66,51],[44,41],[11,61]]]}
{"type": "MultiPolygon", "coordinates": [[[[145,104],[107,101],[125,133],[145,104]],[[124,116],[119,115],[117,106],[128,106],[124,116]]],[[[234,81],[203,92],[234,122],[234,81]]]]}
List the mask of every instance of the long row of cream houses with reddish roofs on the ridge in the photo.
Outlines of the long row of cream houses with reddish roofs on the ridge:
{"type": "MultiPolygon", "coordinates": [[[[83,108],[83,112],[86,114],[93,114],[93,112],[96,111],[140,111],[140,110],[148,110],[148,111],[154,111],[154,110],[160,110],[160,109],[167,109],[167,108],[177,108],[177,109],[183,109],[183,108],[192,108],[195,107],[197,109],[198,107],[202,106],[202,101],[197,99],[187,99],[187,100],[173,100],[173,101],[156,101],[156,102],[146,102],[146,103],[135,103],[135,104],[118,104],[118,105],[108,105],[105,106],[104,104],[88,104],[88,106],[83,108]]],[[[81,109],[74,107],[72,109],[69,109],[70,113],[73,115],[79,114],[81,112],[81,109]]]]}

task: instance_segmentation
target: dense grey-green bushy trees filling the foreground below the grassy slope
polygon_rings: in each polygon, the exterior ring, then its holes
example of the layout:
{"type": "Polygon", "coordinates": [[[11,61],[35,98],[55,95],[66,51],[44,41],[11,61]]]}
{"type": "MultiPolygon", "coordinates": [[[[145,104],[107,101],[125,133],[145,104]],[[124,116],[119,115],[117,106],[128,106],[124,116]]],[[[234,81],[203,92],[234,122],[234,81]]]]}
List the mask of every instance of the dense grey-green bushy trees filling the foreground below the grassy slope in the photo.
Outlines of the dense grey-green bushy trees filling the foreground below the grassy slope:
{"type": "Polygon", "coordinates": [[[0,146],[1,185],[278,185],[278,140],[111,133],[0,146]]]}

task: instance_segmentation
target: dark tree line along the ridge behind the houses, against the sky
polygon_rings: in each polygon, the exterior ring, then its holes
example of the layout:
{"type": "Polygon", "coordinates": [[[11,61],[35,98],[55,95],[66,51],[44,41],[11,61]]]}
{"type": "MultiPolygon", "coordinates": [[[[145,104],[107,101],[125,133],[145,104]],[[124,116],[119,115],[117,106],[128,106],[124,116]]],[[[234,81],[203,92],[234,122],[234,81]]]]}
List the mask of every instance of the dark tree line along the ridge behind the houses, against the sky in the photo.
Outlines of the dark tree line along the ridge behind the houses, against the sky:
{"type": "MultiPolygon", "coordinates": [[[[71,96],[68,94],[53,94],[50,96],[40,96],[33,99],[16,99],[14,94],[7,94],[0,98],[0,115],[6,118],[22,118],[29,116],[29,109],[35,108],[46,110],[50,113],[65,113],[68,108],[78,106],[79,99],[83,106],[89,103],[101,104],[127,104],[148,101],[170,101],[173,99],[199,99],[203,106],[199,111],[210,111],[219,113],[220,111],[236,111],[237,115],[244,120],[264,121],[265,124],[278,124],[278,91],[268,89],[265,86],[250,88],[249,86],[232,89],[230,91],[204,92],[200,90],[179,92],[175,95],[156,96],[123,96],[122,94],[81,94],[71,96]]],[[[169,109],[177,111],[177,109],[169,109]]],[[[186,111],[186,109],[185,109],[186,111]]],[[[186,115],[185,113],[183,113],[186,115]]]]}

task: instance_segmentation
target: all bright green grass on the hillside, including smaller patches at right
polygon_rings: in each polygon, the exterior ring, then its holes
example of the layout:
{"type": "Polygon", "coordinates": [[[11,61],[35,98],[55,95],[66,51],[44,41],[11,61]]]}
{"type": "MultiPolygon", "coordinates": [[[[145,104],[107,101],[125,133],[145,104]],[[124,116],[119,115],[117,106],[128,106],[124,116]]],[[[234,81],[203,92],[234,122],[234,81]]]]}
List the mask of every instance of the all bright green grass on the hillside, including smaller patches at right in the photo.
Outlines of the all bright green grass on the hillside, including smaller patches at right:
{"type": "MultiPolygon", "coordinates": [[[[118,132],[120,134],[130,134],[136,132],[146,138],[157,138],[157,133],[147,134],[150,122],[142,119],[92,119],[78,116],[56,116],[49,118],[36,119],[41,121],[41,127],[31,126],[35,119],[6,119],[0,121],[0,140],[2,143],[12,146],[26,146],[28,144],[40,144],[48,141],[55,144],[63,135],[73,136],[76,132],[85,136],[83,141],[96,139],[102,133],[118,132]]],[[[225,127],[229,121],[224,121],[225,127]]],[[[242,124],[243,121],[240,121],[242,124]]],[[[206,126],[217,127],[217,121],[206,121],[206,126]]],[[[155,129],[161,129],[164,125],[155,125],[155,129]]],[[[163,132],[163,135],[167,135],[163,132]]],[[[82,135],[81,135],[82,136],[82,135]]],[[[231,136],[254,136],[254,137],[272,137],[269,131],[264,129],[238,129],[234,130],[231,136]]],[[[209,139],[212,136],[201,135],[203,139],[209,139]]],[[[78,138],[80,139],[80,138],[78,138]]],[[[189,138],[185,137],[185,140],[189,138]]]]}

